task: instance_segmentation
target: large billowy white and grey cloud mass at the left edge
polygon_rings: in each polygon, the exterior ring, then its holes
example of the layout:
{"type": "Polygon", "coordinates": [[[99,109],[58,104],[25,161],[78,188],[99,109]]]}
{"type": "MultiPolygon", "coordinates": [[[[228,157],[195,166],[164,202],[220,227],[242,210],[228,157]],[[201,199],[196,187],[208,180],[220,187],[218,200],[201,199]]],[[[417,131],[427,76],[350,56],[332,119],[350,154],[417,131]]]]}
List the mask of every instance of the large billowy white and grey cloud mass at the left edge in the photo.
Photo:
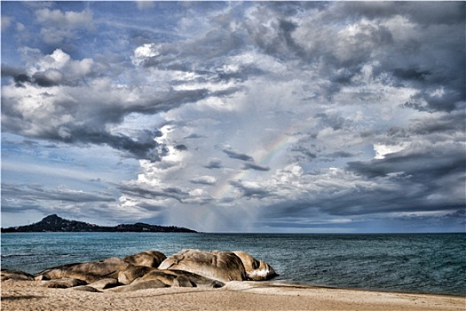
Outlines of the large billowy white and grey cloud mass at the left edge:
{"type": "Polygon", "coordinates": [[[26,52],[29,57],[33,53],[37,66],[28,69],[29,75],[20,74],[19,68],[4,69],[4,75],[14,76],[16,84],[4,87],[2,109],[4,129],[29,137],[107,144],[129,156],[158,161],[165,149],[154,141],[156,131],[138,131],[137,137],[130,138],[108,132],[106,125],[120,123],[130,113],[154,114],[207,96],[205,90],[169,90],[143,99],[143,92],[119,87],[107,79],[93,79],[88,85],[93,60],[71,60],[61,50],[51,55],[26,52]],[[128,97],[128,92],[132,96],[128,97]],[[43,104],[48,108],[43,109],[43,104]]]}

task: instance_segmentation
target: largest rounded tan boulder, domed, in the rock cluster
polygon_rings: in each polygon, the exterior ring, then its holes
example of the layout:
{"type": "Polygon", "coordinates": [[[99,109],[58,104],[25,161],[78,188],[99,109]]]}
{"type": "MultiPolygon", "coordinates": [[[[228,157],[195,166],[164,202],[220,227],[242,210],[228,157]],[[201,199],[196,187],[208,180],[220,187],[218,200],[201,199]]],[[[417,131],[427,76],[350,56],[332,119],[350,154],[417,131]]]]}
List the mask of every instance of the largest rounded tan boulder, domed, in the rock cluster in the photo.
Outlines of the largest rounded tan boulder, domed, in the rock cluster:
{"type": "Polygon", "coordinates": [[[241,259],[231,251],[183,250],[163,260],[159,269],[176,269],[221,281],[247,279],[241,259]]]}

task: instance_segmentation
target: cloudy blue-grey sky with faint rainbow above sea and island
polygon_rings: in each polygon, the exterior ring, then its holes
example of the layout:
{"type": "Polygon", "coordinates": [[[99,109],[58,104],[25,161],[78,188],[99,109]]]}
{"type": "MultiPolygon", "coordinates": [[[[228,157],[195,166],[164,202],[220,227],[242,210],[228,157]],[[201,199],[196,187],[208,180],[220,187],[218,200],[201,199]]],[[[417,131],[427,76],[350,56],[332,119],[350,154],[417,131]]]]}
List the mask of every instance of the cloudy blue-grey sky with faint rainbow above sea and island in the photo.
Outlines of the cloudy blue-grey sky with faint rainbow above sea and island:
{"type": "Polygon", "coordinates": [[[464,232],[464,2],[2,1],[2,227],[464,232]]]}

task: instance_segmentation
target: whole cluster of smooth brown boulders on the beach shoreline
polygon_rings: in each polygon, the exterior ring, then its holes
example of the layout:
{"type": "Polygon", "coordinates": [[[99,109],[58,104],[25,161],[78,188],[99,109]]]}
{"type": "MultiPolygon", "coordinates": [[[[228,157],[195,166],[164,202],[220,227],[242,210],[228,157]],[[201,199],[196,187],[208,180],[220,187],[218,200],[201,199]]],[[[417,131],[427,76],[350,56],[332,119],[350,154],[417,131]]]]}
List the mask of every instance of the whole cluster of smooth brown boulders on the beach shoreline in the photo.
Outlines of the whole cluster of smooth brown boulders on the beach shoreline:
{"type": "Polygon", "coordinates": [[[222,287],[230,281],[263,281],[277,274],[244,251],[183,250],[167,258],[160,251],[51,267],[37,275],[2,270],[2,281],[42,281],[50,288],[79,291],[138,291],[162,287],[222,287]]]}

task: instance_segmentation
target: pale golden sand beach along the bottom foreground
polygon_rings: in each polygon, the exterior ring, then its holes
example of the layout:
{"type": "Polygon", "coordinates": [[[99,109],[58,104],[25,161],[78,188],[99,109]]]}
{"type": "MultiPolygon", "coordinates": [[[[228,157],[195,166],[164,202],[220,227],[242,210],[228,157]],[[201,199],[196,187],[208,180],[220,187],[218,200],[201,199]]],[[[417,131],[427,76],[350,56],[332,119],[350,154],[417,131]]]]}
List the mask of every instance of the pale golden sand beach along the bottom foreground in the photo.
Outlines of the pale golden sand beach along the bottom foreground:
{"type": "Polygon", "coordinates": [[[51,289],[39,281],[4,281],[2,311],[34,310],[466,310],[466,298],[355,291],[282,283],[230,282],[220,289],[132,292],[51,289]]]}

